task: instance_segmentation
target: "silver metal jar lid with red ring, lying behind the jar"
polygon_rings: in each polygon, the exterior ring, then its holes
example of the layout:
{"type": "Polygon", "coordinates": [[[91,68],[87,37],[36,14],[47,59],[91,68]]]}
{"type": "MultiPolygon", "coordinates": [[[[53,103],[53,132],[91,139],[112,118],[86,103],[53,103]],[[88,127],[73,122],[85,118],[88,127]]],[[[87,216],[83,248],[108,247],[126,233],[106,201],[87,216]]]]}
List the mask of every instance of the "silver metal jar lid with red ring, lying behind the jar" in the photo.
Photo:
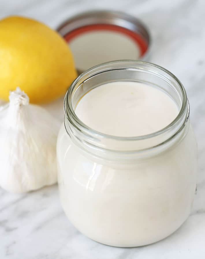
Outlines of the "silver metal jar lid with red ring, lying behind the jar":
{"type": "Polygon", "coordinates": [[[79,73],[112,60],[146,60],[150,49],[146,26],[122,12],[81,13],[57,31],[69,44],[79,73]]]}

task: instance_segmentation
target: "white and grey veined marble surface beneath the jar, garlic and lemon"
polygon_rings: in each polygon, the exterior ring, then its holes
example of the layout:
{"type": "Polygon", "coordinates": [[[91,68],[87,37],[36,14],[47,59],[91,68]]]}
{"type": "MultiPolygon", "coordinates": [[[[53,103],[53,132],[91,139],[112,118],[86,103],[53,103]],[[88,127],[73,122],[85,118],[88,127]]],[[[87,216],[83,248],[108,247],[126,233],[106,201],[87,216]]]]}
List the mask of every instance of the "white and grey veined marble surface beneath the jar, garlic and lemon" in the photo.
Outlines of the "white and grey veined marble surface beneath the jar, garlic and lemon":
{"type": "MultiPolygon", "coordinates": [[[[123,10],[141,18],[153,38],[151,62],[184,84],[198,142],[198,190],[188,220],[170,237],[144,247],[122,249],[96,243],[67,220],[57,186],[24,195],[0,188],[0,258],[8,259],[203,259],[205,258],[205,2],[204,0],[1,0],[0,18],[18,14],[52,28],[90,9],[123,10]]],[[[62,100],[48,107],[63,115],[62,100]]],[[[3,173],[3,172],[1,172],[3,173]]]]}

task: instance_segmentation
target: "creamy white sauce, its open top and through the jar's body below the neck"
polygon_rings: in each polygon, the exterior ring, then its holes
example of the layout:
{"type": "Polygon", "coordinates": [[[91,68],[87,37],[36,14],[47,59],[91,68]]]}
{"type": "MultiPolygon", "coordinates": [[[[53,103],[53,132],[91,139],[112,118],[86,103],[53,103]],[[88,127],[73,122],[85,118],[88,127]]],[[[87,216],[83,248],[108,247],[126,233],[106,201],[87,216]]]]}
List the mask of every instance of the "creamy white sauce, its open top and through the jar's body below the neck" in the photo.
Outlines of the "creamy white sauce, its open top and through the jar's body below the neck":
{"type": "MultiPolygon", "coordinates": [[[[131,81],[92,89],[75,110],[89,127],[115,136],[156,132],[178,112],[165,92],[131,81]]],[[[91,239],[119,247],[148,245],[172,234],[189,216],[196,187],[197,151],[189,121],[182,132],[183,138],[161,153],[123,162],[111,160],[106,149],[101,158],[83,151],[62,125],[58,182],[70,222],[91,239]]]]}

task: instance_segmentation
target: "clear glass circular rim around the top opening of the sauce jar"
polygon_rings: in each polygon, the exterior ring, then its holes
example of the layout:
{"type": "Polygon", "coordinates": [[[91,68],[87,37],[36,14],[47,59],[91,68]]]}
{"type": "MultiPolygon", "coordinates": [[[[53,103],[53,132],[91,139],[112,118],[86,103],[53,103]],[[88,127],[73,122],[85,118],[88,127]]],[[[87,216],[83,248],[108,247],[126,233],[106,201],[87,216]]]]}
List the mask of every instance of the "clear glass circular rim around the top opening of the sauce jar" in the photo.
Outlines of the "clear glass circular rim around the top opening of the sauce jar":
{"type": "MultiPolygon", "coordinates": [[[[123,68],[121,68],[123,69],[123,68]]],[[[107,69],[108,70],[112,70],[112,69],[107,69]]],[[[102,73],[104,71],[100,71],[98,73],[102,73]]],[[[96,73],[97,74],[97,73],[96,73]]],[[[150,62],[144,62],[144,61],[136,61],[136,60],[115,60],[115,61],[111,61],[111,62],[105,62],[102,64],[98,64],[90,69],[88,69],[87,71],[83,72],[81,75],[79,75],[79,77],[77,77],[72,84],[70,85],[65,98],[64,98],[64,112],[65,115],[67,117],[67,119],[70,121],[70,123],[72,123],[72,125],[76,128],[78,128],[79,130],[85,132],[85,133],[89,133],[93,134],[96,138],[100,137],[100,138],[111,138],[114,140],[120,140],[120,141],[136,141],[136,140],[145,140],[148,138],[153,138],[156,137],[158,135],[161,135],[165,132],[167,132],[169,129],[171,129],[172,127],[174,127],[175,125],[178,124],[178,122],[181,120],[182,116],[184,115],[184,113],[186,112],[187,109],[187,113],[186,116],[184,118],[182,127],[180,127],[180,130],[185,126],[187,120],[189,119],[189,102],[187,99],[187,94],[185,91],[184,86],[182,85],[182,83],[180,82],[180,80],[174,75],[172,74],[170,71],[168,71],[167,69],[163,68],[162,66],[156,65],[154,63],[150,63],[150,62]],[[97,70],[98,68],[101,68],[103,66],[107,66],[107,65],[114,65],[114,64],[136,64],[136,65],[147,65],[150,66],[150,68],[158,68],[159,70],[165,72],[167,75],[171,76],[172,79],[174,79],[174,81],[176,81],[176,83],[178,83],[179,87],[180,87],[180,91],[182,93],[182,105],[180,108],[180,111],[177,115],[177,117],[171,122],[169,123],[169,125],[167,125],[166,127],[164,127],[163,129],[160,129],[156,132],[147,134],[147,135],[142,135],[142,136],[131,136],[131,137],[124,137],[124,136],[113,136],[113,135],[109,135],[109,134],[104,134],[102,132],[96,131],[95,129],[92,129],[91,127],[89,127],[88,125],[86,125],[85,123],[83,123],[75,114],[74,109],[72,107],[72,93],[74,91],[74,87],[77,83],[79,83],[83,78],[85,80],[89,79],[90,77],[87,76],[89,73],[91,73],[92,71],[97,70]],[[188,107],[188,109],[187,109],[188,107]]],[[[178,132],[180,131],[178,130],[178,132]]]]}

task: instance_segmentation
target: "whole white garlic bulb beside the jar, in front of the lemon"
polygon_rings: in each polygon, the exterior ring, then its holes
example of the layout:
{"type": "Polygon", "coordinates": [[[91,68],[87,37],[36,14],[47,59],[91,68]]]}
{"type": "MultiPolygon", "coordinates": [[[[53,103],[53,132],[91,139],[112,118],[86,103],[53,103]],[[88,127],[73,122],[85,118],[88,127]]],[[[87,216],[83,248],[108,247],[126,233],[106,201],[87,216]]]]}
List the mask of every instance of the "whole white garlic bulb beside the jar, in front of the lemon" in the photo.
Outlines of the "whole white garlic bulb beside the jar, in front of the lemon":
{"type": "Polygon", "coordinates": [[[59,122],[17,88],[0,109],[0,186],[23,193],[57,182],[59,122]]]}

